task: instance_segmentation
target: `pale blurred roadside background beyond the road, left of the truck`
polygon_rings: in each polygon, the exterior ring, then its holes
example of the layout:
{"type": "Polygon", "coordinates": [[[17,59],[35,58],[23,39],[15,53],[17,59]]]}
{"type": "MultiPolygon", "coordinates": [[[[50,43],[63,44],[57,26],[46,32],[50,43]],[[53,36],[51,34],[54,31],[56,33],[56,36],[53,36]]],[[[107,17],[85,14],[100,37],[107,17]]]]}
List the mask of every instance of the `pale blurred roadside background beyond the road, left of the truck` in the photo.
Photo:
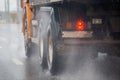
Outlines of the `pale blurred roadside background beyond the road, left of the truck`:
{"type": "Polygon", "coordinates": [[[0,0],[0,23],[21,23],[20,0],[0,0]]]}

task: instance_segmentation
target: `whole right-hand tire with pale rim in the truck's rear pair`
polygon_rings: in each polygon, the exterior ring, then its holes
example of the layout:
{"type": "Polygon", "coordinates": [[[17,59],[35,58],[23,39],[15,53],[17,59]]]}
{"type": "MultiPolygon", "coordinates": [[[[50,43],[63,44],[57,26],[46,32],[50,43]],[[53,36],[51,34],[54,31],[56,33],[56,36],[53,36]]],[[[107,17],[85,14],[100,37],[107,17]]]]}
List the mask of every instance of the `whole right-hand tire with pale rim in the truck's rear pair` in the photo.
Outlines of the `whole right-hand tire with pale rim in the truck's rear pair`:
{"type": "Polygon", "coordinates": [[[57,70],[58,70],[58,54],[56,51],[56,47],[55,47],[55,41],[53,40],[53,36],[52,36],[52,31],[50,30],[48,32],[48,37],[47,37],[47,48],[48,48],[48,52],[47,52],[47,66],[48,66],[48,70],[52,75],[57,74],[57,70]]]}

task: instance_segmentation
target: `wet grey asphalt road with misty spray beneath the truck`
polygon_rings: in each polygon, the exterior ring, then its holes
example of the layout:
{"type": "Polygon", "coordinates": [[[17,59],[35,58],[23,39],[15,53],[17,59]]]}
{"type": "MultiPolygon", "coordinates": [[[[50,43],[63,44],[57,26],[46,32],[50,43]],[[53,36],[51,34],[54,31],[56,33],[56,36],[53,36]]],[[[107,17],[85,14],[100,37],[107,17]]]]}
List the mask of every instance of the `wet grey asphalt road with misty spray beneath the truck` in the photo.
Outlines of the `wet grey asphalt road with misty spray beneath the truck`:
{"type": "Polygon", "coordinates": [[[20,25],[0,24],[0,80],[120,80],[119,57],[99,52],[95,59],[83,59],[76,47],[62,53],[69,55],[61,57],[58,75],[50,76],[40,67],[37,43],[27,58],[23,41],[20,25]]]}

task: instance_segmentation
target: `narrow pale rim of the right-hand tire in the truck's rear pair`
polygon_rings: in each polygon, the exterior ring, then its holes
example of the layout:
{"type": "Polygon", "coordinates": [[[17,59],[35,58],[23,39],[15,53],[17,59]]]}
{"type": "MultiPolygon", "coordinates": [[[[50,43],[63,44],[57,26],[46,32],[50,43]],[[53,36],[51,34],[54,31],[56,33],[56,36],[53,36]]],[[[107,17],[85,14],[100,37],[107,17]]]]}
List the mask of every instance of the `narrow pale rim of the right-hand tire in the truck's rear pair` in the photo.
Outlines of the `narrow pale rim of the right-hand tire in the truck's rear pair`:
{"type": "Polygon", "coordinates": [[[53,63],[53,42],[52,42],[52,38],[49,37],[49,41],[48,41],[48,68],[49,70],[52,68],[52,63],[53,63]]]}

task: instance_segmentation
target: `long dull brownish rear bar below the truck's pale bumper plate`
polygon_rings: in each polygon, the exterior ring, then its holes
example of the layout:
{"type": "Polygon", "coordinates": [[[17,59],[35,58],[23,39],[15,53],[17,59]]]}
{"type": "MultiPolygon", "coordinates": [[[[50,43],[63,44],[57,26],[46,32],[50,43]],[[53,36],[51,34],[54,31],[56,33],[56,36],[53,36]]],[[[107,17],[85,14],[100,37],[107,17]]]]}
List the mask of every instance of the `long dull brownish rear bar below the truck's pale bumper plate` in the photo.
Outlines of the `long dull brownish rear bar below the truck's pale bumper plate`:
{"type": "Polygon", "coordinates": [[[57,46],[57,50],[58,52],[73,50],[78,51],[78,53],[102,52],[120,55],[120,40],[64,39],[62,45],[57,46]]]}

